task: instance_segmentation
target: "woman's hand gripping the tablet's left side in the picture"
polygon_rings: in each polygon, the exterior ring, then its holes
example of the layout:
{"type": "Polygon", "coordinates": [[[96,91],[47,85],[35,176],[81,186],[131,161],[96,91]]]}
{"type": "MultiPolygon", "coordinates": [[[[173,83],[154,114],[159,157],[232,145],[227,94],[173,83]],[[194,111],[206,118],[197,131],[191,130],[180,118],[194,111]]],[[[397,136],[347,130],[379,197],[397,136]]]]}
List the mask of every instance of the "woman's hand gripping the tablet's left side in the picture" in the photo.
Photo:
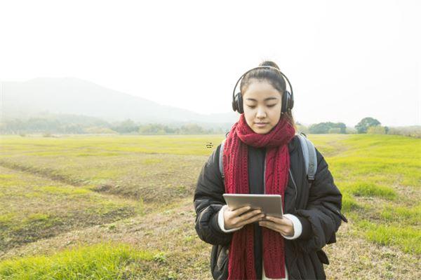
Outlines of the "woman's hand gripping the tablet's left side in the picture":
{"type": "Polygon", "coordinates": [[[250,207],[245,206],[238,209],[230,209],[227,207],[224,211],[224,228],[231,230],[232,228],[240,228],[243,225],[260,221],[265,215],[260,209],[249,211],[250,207]],[[246,213],[248,211],[248,213],[246,213]]]}

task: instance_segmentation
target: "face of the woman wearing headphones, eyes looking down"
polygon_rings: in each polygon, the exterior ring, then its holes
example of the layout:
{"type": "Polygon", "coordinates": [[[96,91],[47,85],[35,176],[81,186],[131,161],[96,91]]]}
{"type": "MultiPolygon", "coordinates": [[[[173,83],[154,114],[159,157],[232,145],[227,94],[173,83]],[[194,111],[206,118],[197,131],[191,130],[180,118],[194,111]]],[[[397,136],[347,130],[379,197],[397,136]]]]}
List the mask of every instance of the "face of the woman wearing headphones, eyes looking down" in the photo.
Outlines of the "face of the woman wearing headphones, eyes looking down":
{"type": "Polygon", "coordinates": [[[281,118],[281,104],[281,92],[267,80],[252,80],[243,93],[246,123],[258,134],[270,132],[281,118]]]}

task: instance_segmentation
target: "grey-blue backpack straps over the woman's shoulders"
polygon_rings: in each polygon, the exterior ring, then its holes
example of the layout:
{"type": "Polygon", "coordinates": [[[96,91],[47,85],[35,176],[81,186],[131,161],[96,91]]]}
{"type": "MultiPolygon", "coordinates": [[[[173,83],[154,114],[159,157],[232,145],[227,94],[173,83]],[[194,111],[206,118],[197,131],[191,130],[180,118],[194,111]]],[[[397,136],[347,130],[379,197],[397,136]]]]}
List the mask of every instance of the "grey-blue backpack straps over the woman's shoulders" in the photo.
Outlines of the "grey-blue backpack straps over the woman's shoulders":
{"type": "MultiPolygon", "coordinates": [[[[316,170],[317,170],[316,148],[314,148],[312,141],[309,141],[309,139],[307,139],[307,136],[304,133],[300,132],[295,135],[298,136],[298,139],[300,139],[302,155],[304,155],[305,174],[307,174],[307,180],[309,181],[310,186],[312,186],[311,184],[314,181],[314,175],[316,174],[316,170]]],[[[225,181],[225,176],[224,176],[222,158],[223,158],[223,153],[224,153],[225,140],[226,139],[222,141],[221,148],[220,148],[220,157],[219,157],[220,173],[222,175],[222,180],[224,181],[225,181]]]]}

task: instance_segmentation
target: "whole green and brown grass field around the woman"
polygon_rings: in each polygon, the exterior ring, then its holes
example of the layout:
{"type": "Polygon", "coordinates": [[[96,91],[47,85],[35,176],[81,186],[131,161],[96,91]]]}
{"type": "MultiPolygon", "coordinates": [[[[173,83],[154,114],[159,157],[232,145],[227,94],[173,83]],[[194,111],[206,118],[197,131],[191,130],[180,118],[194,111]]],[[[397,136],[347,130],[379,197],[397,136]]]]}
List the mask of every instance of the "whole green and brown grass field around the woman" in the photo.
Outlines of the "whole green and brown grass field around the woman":
{"type": "MultiPolygon", "coordinates": [[[[328,279],[421,279],[421,140],[308,137],[349,220],[328,279]]],[[[1,137],[0,279],[211,279],[192,195],[222,139],[1,137]]]]}

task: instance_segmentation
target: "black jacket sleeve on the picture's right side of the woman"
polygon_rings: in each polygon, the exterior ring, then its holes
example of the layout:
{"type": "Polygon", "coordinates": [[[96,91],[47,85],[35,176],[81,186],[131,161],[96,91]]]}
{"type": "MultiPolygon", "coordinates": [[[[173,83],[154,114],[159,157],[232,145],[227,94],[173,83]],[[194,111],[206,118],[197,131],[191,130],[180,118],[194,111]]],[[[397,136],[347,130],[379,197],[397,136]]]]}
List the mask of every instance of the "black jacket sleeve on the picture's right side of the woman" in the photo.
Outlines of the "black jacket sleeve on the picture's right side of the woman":
{"type": "Polygon", "coordinates": [[[342,194],[335,186],[328,163],[317,149],[316,155],[317,170],[309,189],[307,207],[295,213],[302,221],[302,236],[297,244],[304,252],[319,251],[326,244],[335,243],[335,232],[341,220],[347,222],[340,213],[342,194]]]}

